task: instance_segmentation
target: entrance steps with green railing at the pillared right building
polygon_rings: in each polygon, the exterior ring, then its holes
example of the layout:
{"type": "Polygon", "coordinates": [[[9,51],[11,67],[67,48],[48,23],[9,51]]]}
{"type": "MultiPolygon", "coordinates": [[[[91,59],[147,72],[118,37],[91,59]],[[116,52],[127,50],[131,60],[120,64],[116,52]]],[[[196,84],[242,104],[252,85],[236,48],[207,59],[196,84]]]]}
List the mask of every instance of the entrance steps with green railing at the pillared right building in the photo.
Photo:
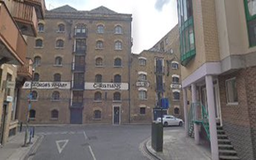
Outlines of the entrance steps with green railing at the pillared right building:
{"type": "MultiPolygon", "coordinates": [[[[194,137],[194,123],[202,125],[207,134],[207,139],[210,140],[210,130],[209,130],[209,116],[206,111],[206,108],[201,103],[191,104],[189,111],[189,136],[194,137]],[[196,106],[201,107],[201,119],[195,119],[195,110],[196,106]]],[[[231,145],[228,135],[225,134],[223,127],[220,126],[220,123],[217,123],[217,136],[218,136],[218,147],[219,147],[219,159],[220,160],[239,160],[238,154],[236,153],[234,147],[231,145]]]]}

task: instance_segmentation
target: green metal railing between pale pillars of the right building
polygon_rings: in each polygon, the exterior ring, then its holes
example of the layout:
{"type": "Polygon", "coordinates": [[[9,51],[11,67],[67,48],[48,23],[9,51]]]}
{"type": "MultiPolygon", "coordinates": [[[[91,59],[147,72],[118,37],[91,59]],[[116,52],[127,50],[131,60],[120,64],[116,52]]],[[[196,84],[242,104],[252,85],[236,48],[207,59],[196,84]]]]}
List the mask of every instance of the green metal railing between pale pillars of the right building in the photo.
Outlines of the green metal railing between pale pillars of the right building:
{"type": "Polygon", "coordinates": [[[189,111],[189,118],[188,118],[189,122],[187,125],[194,125],[194,123],[197,124],[202,124],[202,126],[205,129],[205,132],[207,134],[207,138],[210,140],[210,130],[209,130],[209,115],[206,111],[206,108],[204,105],[202,105],[201,103],[197,102],[197,103],[192,103],[190,106],[190,111],[189,111]],[[202,114],[202,119],[196,119],[195,118],[195,107],[200,106],[201,107],[201,114],[202,114]]]}

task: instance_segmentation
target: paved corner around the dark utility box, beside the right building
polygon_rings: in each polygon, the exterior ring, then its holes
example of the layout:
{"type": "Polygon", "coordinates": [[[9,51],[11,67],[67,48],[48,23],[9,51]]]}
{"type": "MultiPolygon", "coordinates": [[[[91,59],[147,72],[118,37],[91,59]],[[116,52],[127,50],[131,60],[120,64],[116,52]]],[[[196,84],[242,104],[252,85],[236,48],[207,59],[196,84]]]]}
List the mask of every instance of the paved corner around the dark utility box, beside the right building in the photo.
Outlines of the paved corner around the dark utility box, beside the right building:
{"type": "MultiPolygon", "coordinates": [[[[170,128],[170,127],[168,127],[170,128]]],[[[146,148],[157,159],[168,160],[210,160],[209,147],[196,145],[191,137],[186,137],[184,128],[173,128],[163,132],[163,152],[156,152],[151,147],[151,139],[146,142],[146,148]]]]}

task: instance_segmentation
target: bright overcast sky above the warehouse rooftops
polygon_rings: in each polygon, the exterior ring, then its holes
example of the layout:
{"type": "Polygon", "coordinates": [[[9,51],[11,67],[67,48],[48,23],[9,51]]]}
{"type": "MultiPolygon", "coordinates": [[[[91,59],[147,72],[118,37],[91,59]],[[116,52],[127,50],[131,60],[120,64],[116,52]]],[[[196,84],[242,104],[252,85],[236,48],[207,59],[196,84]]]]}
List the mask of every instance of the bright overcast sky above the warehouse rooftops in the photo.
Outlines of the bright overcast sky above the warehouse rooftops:
{"type": "Polygon", "coordinates": [[[69,4],[90,11],[105,6],[118,13],[132,14],[132,52],[150,49],[177,23],[176,0],[45,0],[47,9],[69,4]]]}

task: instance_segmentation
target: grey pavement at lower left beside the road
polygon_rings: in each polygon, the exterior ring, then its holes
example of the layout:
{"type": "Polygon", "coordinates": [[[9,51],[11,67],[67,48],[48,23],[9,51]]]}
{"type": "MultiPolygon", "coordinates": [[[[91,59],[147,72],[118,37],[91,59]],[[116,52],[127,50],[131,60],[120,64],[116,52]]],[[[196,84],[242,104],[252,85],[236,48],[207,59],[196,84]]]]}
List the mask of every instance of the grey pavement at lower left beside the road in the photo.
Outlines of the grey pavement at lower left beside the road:
{"type": "Polygon", "coordinates": [[[25,132],[17,133],[13,137],[8,139],[6,145],[0,147],[0,159],[1,160],[23,160],[30,159],[28,156],[33,152],[33,149],[39,144],[42,139],[41,136],[35,135],[31,139],[31,144],[27,147],[24,145],[25,132]]]}

